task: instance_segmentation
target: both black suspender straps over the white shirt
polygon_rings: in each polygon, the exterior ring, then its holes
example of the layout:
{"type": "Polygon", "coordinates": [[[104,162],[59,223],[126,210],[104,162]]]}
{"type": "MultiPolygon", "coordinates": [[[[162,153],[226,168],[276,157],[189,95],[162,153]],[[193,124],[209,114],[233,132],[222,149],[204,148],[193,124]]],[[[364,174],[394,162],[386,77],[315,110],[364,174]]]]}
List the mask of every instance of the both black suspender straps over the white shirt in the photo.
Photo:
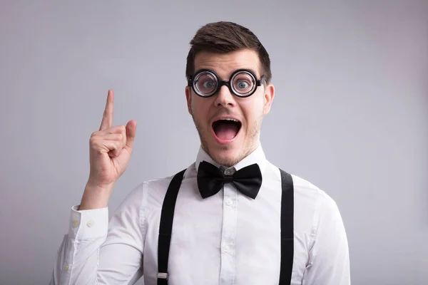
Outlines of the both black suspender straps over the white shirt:
{"type": "MultiPolygon", "coordinates": [[[[158,239],[158,285],[168,285],[168,257],[173,230],[175,201],[185,170],[171,180],[163,199],[158,239]]],[[[279,285],[290,284],[294,257],[294,187],[292,176],[281,170],[281,266],[279,285]]]]}

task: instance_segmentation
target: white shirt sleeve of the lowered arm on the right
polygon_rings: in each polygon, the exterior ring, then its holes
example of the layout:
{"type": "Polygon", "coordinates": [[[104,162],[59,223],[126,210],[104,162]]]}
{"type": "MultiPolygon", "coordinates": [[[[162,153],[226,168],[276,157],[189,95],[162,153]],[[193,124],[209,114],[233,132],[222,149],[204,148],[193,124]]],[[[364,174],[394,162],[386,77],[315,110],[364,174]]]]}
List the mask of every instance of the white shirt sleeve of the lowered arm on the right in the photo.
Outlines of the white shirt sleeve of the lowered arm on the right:
{"type": "Polygon", "coordinates": [[[347,234],[337,204],[323,193],[315,213],[315,235],[302,284],[350,285],[347,234]]]}

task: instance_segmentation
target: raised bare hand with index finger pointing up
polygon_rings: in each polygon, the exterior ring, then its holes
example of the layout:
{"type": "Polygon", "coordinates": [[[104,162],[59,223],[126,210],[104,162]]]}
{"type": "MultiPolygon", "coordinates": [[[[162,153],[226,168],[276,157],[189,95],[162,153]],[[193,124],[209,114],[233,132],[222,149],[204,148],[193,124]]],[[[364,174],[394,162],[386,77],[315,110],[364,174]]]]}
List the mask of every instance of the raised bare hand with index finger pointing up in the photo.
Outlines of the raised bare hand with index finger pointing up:
{"type": "Polygon", "coordinates": [[[137,123],[135,120],[130,120],[126,126],[111,126],[113,103],[113,90],[108,90],[106,109],[100,129],[92,133],[89,140],[91,171],[88,185],[98,189],[112,189],[118,178],[125,172],[136,137],[137,123]]]}

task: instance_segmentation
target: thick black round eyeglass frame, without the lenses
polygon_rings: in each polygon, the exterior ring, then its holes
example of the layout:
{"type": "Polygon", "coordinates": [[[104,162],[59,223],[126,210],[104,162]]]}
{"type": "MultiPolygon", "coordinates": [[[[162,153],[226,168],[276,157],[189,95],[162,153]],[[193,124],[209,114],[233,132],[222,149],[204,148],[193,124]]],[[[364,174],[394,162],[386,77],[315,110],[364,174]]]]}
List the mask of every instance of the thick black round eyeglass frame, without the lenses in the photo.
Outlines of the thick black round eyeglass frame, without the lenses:
{"type": "Polygon", "coordinates": [[[191,87],[193,92],[196,93],[196,95],[203,97],[203,98],[208,98],[211,97],[213,95],[215,95],[215,93],[218,93],[218,90],[220,90],[220,88],[225,85],[228,86],[230,93],[232,93],[233,95],[240,97],[240,98],[246,98],[246,97],[250,97],[251,95],[253,95],[255,93],[255,90],[257,90],[257,88],[259,86],[262,86],[263,81],[266,81],[266,77],[263,75],[262,77],[260,77],[260,79],[257,79],[257,76],[255,76],[255,73],[253,71],[251,71],[250,69],[245,69],[245,68],[241,68],[238,69],[236,71],[233,71],[233,73],[230,75],[230,78],[228,81],[220,81],[220,79],[218,78],[217,73],[215,73],[215,71],[212,71],[210,69],[200,69],[198,72],[196,72],[193,76],[190,76],[190,78],[188,79],[188,87],[191,87]],[[211,75],[214,76],[214,78],[217,80],[218,84],[217,84],[217,88],[215,88],[215,90],[213,90],[213,93],[211,93],[210,95],[202,95],[198,92],[197,88],[195,88],[195,82],[194,82],[194,78],[198,78],[198,75],[200,73],[204,73],[204,72],[208,72],[211,73],[211,75]],[[235,89],[232,87],[232,85],[230,84],[230,81],[232,81],[233,77],[241,72],[246,72],[246,73],[250,73],[250,76],[253,77],[253,81],[255,84],[255,88],[253,89],[253,91],[251,91],[248,94],[245,95],[241,95],[240,93],[238,93],[237,91],[235,91],[235,89]]]}

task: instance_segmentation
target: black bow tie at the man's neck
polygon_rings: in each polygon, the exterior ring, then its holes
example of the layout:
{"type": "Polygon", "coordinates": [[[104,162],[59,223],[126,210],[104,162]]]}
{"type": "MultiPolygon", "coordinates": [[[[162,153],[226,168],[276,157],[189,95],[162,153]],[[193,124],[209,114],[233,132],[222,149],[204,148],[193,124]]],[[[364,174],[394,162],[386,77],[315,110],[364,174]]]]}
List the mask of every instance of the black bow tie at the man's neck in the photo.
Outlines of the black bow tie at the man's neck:
{"type": "Polygon", "coordinates": [[[248,165],[233,175],[225,175],[220,168],[209,162],[200,162],[198,167],[198,188],[205,199],[217,194],[225,183],[232,182],[236,189],[255,199],[262,185],[262,172],[257,164],[248,165]]]}

